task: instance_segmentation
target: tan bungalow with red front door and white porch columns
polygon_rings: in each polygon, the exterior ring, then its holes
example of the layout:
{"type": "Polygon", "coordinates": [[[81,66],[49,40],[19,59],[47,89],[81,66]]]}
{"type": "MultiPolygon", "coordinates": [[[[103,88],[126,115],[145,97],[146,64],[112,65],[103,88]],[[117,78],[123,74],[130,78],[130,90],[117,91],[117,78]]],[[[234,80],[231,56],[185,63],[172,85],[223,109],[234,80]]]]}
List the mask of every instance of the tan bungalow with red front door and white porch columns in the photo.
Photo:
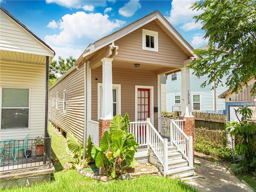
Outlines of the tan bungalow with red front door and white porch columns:
{"type": "Polygon", "coordinates": [[[193,144],[189,136],[194,135],[194,117],[185,66],[196,58],[193,48],[164,16],[153,12],[84,50],[74,66],[50,87],[50,122],[62,133],[74,134],[84,146],[88,135],[98,145],[113,116],[128,113],[130,132],[141,146],[152,150],[163,174],[191,175],[193,144]],[[161,118],[160,75],[178,71],[182,72],[183,115],[170,121],[161,118]],[[171,134],[170,142],[159,133],[171,134]],[[177,157],[168,157],[168,144],[175,148],[177,157]],[[171,160],[176,160],[174,166],[171,160]],[[170,167],[182,168],[175,172],[170,167]],[[186,173],[179,174],[181,170],[186,173]]]}

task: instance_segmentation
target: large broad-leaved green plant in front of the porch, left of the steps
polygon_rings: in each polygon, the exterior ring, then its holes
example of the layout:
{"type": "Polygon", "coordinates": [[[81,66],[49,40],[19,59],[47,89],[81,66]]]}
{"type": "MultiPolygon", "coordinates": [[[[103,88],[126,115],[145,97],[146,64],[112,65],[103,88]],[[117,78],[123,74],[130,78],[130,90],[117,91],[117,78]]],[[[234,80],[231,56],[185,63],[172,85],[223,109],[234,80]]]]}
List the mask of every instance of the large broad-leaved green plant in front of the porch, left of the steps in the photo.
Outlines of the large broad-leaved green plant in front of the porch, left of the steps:
{"type": "Polygon", "coordinates": [[[92,148],[92,158],[96,166],[102,167],[107,177],[117,178],[126,166],[135,166],[134,154],[138,143],[133,133],[128,133],[130,121],[126,113],[124,118],[117,114],[110,123],[110,131],[104,132],[100,147],[92,148]]]}

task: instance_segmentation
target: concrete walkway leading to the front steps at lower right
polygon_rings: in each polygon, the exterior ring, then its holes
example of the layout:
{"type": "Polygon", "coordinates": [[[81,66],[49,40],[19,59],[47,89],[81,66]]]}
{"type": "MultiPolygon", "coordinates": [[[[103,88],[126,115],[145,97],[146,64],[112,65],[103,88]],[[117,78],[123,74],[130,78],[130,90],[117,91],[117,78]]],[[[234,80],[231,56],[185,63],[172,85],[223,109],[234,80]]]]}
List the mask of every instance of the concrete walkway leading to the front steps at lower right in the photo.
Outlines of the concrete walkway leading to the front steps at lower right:
{"type": "Polygon", "coordinates": [[[254,192],[223,165],[195,157],[195,175],[186,182],[202,192],[254,192]]]}

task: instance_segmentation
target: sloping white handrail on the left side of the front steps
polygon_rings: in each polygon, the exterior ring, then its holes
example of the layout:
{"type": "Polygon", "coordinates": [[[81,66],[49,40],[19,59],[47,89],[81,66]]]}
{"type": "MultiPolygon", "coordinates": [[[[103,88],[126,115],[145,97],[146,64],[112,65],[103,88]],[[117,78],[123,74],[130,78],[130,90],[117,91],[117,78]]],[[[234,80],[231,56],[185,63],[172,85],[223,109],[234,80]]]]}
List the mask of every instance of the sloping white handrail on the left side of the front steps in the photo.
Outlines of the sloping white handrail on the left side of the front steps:
{"type": "Polygon", "coordinates": [[[150,121],[148,121],[147,133],[148,146],[164,167],[165,176],[168,171],[168,140],[162,138],[150,121]]]}

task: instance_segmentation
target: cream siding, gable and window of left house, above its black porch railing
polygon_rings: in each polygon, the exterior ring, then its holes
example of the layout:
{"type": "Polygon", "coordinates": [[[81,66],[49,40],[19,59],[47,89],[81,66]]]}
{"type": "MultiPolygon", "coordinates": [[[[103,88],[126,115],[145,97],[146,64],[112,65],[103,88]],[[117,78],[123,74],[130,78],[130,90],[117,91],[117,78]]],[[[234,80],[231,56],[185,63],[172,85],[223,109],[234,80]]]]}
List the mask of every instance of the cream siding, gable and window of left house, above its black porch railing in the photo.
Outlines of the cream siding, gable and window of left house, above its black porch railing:
{"type": "Polygon", "coordinates": [[[46,137],[48,64],[55,52],[2,7],[0,13],[0,139],[46,137]]]}

